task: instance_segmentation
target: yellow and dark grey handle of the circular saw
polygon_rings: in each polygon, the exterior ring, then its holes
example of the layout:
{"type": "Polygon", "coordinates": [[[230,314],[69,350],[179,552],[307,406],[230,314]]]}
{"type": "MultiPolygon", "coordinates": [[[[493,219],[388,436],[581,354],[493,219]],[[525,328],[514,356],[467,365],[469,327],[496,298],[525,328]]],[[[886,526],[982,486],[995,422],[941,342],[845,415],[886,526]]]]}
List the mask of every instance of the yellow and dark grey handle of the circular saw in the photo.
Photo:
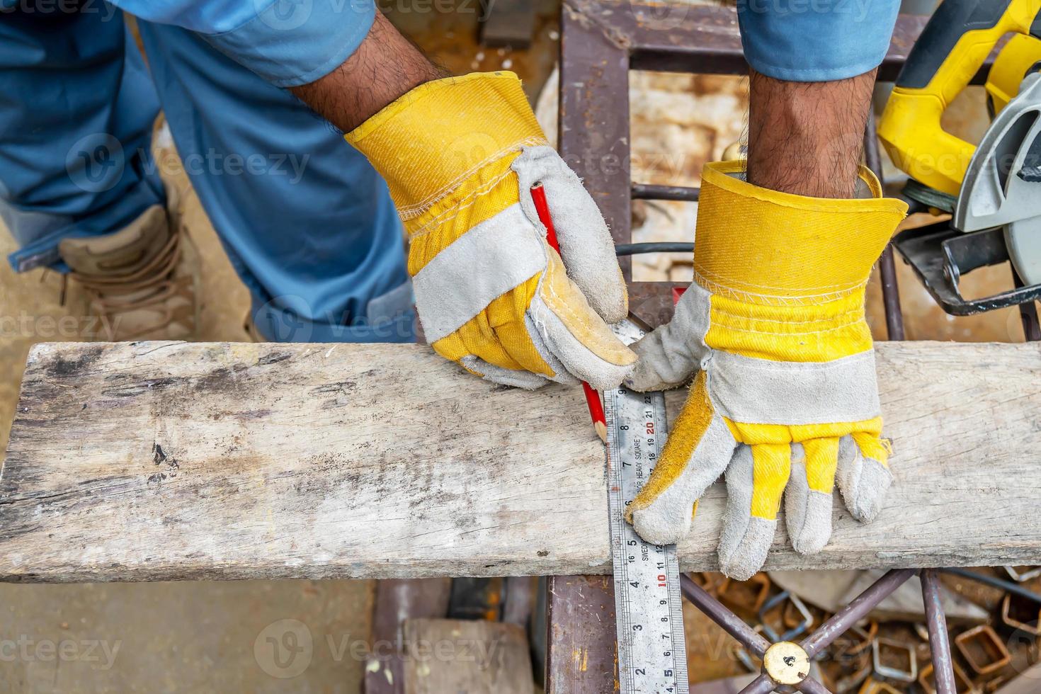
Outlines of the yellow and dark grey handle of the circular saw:
{"type": "MultiPolygon", "coordinates": [[[[1007,33],[1041,37],[1041,0],[943,0],[896,78],[879,138],[911,178],[957,196],[975,146],[940,125],[1007,33]]],[[[1021,78],[1021,76],[1020,76],[1021,78]]]]}

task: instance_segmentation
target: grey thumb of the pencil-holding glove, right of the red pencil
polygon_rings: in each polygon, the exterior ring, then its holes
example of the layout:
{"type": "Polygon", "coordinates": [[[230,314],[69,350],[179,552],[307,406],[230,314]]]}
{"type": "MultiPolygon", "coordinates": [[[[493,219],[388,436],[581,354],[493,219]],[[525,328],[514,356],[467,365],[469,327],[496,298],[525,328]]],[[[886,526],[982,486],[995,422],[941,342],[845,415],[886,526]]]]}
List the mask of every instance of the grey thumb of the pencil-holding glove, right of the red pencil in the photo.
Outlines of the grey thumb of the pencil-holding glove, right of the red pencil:
{"type": "Polygon", "coordinates": [[[544,186],[560,255],[589,305],[608,323],[625,318],[629,300],[614,255],[614,240],[582,181],[552,147],[526,147],[512,168],[520,185],[520,206],[543,234],[545,230],[528,190],[535,183],[544,186]]]}

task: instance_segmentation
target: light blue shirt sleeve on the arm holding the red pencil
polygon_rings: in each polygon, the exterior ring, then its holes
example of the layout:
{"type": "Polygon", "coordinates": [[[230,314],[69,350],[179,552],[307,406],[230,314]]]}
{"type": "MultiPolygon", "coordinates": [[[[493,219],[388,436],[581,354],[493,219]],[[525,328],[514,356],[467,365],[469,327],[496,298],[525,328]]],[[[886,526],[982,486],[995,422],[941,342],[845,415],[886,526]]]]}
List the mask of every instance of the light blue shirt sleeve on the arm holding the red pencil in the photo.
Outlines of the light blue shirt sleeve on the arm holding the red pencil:
{"type": "Polygon", "coordinates": [[[307,84],[357,50],[373,0],[110,0],[148,22],[197,32],[276,86],[307,84]]]}

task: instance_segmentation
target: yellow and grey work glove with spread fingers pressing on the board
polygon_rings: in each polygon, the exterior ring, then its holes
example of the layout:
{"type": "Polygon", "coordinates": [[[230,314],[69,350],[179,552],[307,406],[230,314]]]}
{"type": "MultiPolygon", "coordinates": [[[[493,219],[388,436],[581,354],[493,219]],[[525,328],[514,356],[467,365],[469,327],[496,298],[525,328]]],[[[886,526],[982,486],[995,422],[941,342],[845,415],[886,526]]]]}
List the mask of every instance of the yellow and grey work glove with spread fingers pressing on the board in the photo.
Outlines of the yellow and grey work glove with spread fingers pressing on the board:
{"type": "Polygon", "coordinates": [[[862,169],[858,199],[804,198],[706,164],[694,282],[671,323],[634,345],[636,390],[693,385],[651,479],[629,507],[644,540],[676,542],[726,472],[718,554],[745,580],[766,560],[782,494],[803,554],[832,532],[832,488],[867,522],[892,475],[864,287],[907,205],[862,169]]]}

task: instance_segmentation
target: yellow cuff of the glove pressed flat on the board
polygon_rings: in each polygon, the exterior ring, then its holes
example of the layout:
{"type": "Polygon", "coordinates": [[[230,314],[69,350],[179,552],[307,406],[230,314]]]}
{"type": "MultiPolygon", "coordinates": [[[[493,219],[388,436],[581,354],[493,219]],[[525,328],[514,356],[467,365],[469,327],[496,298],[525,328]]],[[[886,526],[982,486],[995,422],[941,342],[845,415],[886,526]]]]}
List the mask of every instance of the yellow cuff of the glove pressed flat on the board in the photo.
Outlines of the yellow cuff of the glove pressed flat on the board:
{"type": "Polygon", "coordinates": [[[861,166],[861,198],[832,200],[768,190],[743,180],[740,161],[705,165],[694,279],[740,302],[805,305],[856,292],[907,205],[882,198],[861,166]]]}

